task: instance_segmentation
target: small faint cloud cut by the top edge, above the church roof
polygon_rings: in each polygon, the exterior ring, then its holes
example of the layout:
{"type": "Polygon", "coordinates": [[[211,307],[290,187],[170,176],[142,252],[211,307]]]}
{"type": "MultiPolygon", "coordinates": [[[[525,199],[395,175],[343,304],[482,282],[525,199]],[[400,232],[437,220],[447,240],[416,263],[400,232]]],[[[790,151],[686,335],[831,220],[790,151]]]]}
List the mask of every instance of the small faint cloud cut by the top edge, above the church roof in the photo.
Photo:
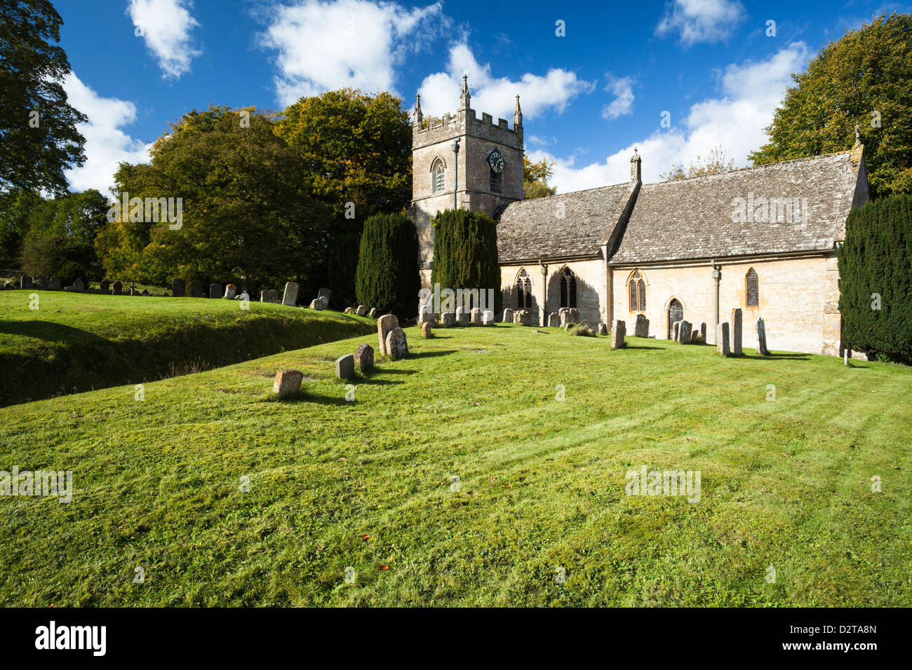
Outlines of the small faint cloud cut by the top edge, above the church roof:
{"type": "Polygon", "coordinates": [[[744,15],[744,6],[738,0],[674,0],[666,5],[656,34],[677,32],[686,46],[721,42],[731,36],[744,15]]]}

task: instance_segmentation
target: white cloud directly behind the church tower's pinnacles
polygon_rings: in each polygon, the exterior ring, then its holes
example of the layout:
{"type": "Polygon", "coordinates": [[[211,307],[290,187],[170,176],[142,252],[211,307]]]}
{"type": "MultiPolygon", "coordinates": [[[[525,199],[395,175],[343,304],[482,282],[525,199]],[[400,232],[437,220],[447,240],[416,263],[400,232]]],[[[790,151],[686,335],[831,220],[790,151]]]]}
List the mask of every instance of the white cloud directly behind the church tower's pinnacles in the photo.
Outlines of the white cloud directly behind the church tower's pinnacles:
{"type": "Polygon", "coordinates": [[[441,116],[459,107],[462,73],[469,75],[472,108],[491,114],[494,119],[513,119],[515,97],[520,96],[523,118],[533,119],[546,111],[563,113],[567,104],[581,93],[590,93],[595,82],[576,77],[575,72],[553,67],[544,77],[526,73],[513,81],[508,77],[492,77],[491,64],[479,64],[465,43],[451,46],[450,60],[445,72],[424,78],[419,92],[421,110],[441,116]]]}

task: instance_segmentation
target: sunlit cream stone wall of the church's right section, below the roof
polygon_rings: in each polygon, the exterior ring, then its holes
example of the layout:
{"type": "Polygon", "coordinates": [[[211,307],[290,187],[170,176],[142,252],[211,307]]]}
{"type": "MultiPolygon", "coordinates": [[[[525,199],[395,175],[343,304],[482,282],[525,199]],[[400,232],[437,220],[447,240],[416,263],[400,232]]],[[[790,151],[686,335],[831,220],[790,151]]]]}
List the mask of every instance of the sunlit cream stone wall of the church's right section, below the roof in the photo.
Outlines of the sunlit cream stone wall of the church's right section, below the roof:
{"type": "MultiPolygon", "coordinates": [[[[731,310],[741,308],[745,353],[756,350],[755,323],[762,317],[770,349],[839,355],[841,326],[835,262],[835,253],[754,261],[717,260],[721,270],[720,321],[731,322],[731,310]],[[759,307],[747,306],[746,275],[751,267],[759,278],[759,307]]],[[[705,321],[708,339],[715,341],[715,288],[709,262],[611,268],[614,318],[627,321],[628,332],[637,320],[637,314],[629,309],[629,279],[637,269],[647,283],[644,314],[649,319],[649,335],[668,337],[668,304],[676,298],[683,306],[683,318],[695,325],[705,321]]]]}

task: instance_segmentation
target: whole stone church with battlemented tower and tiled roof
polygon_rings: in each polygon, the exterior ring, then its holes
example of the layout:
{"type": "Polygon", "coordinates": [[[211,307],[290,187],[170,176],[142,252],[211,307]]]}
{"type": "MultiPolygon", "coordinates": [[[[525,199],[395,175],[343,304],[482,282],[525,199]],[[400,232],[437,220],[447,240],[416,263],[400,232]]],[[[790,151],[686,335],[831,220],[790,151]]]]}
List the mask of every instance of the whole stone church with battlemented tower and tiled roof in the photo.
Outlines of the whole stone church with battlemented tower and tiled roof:
{"type": "MultiPolygon", "coordinates": [[[[864,145],[689,179],[630,180],[523,201],[523,113],[513,128],[478,119],[466,77],[455,116],[413,114],[412,204],[420,273],[430,286],[431,220],[454,207],[497,222],[503,306],[528,309],[533,324],[575,307],[589,324],[637,314],[649,335],[668,338],[681,319],[715,324],[743,313],[744,347],[762,317],[770,348],[841,355],[836,253],[849,211],[869,199],[864,145]]],[[[457,287],[451,287],[457,288],[457,287]]]]}

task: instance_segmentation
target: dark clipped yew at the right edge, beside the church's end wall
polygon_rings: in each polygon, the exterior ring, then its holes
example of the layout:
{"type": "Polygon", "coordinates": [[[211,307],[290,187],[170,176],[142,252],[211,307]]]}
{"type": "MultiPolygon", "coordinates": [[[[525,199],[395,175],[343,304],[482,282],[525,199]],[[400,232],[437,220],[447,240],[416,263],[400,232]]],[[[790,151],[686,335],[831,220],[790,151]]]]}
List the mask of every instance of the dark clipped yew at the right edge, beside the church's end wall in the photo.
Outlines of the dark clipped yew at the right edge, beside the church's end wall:
{"type": "Polygon", "coordinates": [[[881,198],[849,214],[839,311],[846,345],[912,363],[912,196],[881,198]]]}

